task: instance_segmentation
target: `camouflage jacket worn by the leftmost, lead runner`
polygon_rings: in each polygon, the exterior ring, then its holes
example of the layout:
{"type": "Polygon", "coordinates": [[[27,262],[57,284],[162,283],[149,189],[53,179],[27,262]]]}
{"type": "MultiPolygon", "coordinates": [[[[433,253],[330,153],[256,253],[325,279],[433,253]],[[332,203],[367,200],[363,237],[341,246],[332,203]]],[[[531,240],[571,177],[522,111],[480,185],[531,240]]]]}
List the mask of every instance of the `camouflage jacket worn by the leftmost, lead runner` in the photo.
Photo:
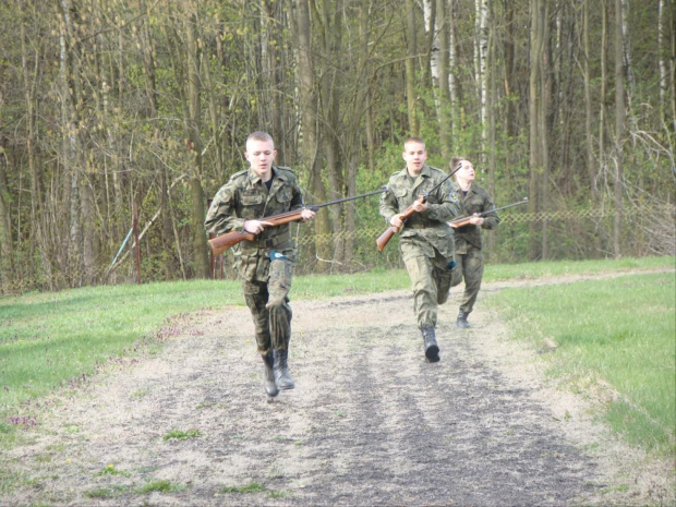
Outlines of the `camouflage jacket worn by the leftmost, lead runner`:
{"type": "MultiPolygon", "coordinates": [[[[291,169],[273,166],[273,173],[269,191],[251,168],[232,174],[212,202],[204,221],[206,230],[216,236],[243,231],[245,220],[261,220],[302,208],[303,194],[291,169]]],[[[250,280],[265,280],[268,263],[258,262],[258,258],[265,259],[271,250],[287,255],[291,261],[295,259],[290,224],[269,227],[256,236],[254,241],[242,241],[236,246],[240,276],[250,280]]]]}

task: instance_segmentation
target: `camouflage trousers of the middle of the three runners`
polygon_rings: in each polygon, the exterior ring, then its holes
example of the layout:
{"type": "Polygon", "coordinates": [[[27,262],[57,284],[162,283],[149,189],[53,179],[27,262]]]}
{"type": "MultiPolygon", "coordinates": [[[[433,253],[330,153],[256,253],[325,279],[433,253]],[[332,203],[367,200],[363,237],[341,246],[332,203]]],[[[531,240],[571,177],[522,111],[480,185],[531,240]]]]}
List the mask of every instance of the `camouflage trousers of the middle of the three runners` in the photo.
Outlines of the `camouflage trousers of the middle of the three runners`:
{"type": "Polygon", "coordinates": [[[437,306],[448,299],[451,270],[450,258],[436,249],[434,257],[426,255],[417,244],[400,244],[406,269],[413,287],[413,313],[418,328],[436,327],[437,306]]]}

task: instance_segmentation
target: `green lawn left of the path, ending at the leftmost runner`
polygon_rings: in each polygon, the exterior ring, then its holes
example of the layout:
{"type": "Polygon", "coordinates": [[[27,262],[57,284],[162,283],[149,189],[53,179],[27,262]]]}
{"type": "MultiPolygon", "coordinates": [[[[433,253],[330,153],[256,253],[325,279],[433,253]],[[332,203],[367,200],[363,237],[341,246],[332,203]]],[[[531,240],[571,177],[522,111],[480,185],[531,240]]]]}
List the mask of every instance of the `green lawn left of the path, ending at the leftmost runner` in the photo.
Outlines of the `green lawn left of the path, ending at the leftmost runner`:
{"type": "MultiPolygon", "coordinates": [[[[90,287],[0,298],[0,414],[111,359],[133,357],[142,338],[173,315],[242,304],[236,281],[90,287]]],[[[2,421],[5,419],[2,418],[2,421]]]]}

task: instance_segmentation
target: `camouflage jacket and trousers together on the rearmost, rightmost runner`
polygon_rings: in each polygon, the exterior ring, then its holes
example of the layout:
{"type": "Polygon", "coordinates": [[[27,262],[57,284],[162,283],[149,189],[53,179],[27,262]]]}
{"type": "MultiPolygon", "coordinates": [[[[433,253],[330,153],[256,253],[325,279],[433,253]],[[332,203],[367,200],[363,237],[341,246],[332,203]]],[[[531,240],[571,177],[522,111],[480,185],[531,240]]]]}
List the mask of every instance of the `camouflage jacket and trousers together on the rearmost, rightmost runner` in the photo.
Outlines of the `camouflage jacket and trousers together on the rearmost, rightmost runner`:
{"type": "MultiPolygon", "coordinates": [[[[460,195],[463,217],[490,212],[495,207],[488,192],[475,183],[471,184],[467,195],[462,195],[460,189],[457,192],[460,195]]],[[[460,304],[460,312],[464,317],[471,313],[481,288],[484,265],[481,229],[494,229],[500,221],[495,212],[487,213],[483,219],[483,226],[469,225],[455,229],[457,267],[454,270],[451,287],[459,285],[464,277],[464,295],[460,304]]]]}

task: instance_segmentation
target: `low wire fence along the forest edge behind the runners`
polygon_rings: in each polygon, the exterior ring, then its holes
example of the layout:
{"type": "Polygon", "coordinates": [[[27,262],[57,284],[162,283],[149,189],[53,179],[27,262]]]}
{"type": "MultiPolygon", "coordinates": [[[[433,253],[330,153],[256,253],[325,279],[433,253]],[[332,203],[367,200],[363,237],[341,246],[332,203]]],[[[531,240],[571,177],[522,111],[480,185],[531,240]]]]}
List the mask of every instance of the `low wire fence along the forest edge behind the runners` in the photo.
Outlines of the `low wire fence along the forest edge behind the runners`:
{"type": "MultiPolygon", "coordinates": [[[[614,208],[559,209],[539,213],[505,213],[494,231],[484,232],[484,255],[487,263],[517,263],[540,259],[586,259],[615,256],[614,208]]],[[[676,206],[644,204],[627,206],[621,219],[620,254],[629,257],[676,254],[676,206]]],[[[375,240],[386,229],[384,221],[316,234],[307,225],[292,227],[298,245],[297,275],[355,273],[374,268],[402,268],[395,236],[383,252],[375,240]]],[[[143,240],[141,240],[143,244],[143,240]]],[[[32,290],[57,290],[101,283],[134,283],[137,280],[164,281],[161,270],[150,269],[162,263],[162,256],[141,254],[141,273],[132,254],[133,242],[126,246],[117,265],[109,259],[83,274],[77,268],[58,269],[46,259],[38,259],[32,276],[0,280],[0,294],[17,294],[32,290]],[[114,264],[114,263],[113,263],[114,264]]],[[[148,249],[140,249],[147,252],[148,249]]],[[[214,278],[237,278],[231,251],[212,258],[214,278]]],[[[186,277],[190,278],[190,277],[186,277]]]]}

